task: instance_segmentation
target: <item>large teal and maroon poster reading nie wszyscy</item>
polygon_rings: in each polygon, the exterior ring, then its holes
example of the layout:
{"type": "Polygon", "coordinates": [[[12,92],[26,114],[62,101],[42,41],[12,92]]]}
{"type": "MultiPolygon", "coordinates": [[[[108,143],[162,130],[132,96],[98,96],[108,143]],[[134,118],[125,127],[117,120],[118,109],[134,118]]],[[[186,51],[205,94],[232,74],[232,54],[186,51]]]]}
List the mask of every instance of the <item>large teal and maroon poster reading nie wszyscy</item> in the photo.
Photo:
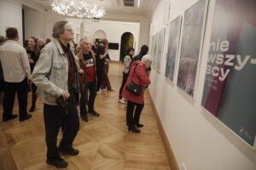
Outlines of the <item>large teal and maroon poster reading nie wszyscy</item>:
{"type": "Polygon", "coordinates": [[[256,150],[256,1],[216,0],[201,105],[256,150]]]}

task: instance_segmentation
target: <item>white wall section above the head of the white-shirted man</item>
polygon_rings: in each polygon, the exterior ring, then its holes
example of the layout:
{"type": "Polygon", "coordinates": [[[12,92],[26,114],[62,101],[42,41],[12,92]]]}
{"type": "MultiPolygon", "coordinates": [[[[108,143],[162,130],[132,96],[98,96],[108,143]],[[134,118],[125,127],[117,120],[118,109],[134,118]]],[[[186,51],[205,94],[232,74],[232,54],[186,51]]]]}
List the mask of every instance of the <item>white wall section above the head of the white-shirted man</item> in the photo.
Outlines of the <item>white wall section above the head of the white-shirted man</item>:
{"type": "Polygon", "coordinates": [[[8,27],[16,27],[19,33],[19,43],[22,45],[22,7],[21,3],[12,0],[0,0],[0,35],[5,37],[8,27]]]}

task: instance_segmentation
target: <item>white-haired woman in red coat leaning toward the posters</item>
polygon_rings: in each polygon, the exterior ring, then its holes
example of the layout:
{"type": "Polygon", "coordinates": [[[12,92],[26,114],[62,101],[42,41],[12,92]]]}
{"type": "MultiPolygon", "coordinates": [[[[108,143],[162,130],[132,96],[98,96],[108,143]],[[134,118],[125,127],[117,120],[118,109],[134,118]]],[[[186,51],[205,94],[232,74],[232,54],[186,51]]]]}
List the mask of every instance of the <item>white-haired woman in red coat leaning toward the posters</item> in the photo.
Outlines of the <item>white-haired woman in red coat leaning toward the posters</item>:
{"type": "Polygon", "coordinates": [[[150,71],[147,71],[147,69],[150,68],[151,63],[152,58],[148,54],[143,56],[142,61],[137,60],[133,62],[133,64],[131,64],[130,75],[122,92],[122,96],[128,100],[126,110],[126,123],[128,130],[134,133],[140,133],[141,131],[137,129],[137,127],[143,127],[143,124],[140,124],[139,120],[144,107],[145,88],[148,88],[148,85],[150,84],[150,71]],[[127,84],[131,82],[131,80],[132,82],[141,85],[141,95],[131,94],[131,92],[126,89],[127,84]]]}

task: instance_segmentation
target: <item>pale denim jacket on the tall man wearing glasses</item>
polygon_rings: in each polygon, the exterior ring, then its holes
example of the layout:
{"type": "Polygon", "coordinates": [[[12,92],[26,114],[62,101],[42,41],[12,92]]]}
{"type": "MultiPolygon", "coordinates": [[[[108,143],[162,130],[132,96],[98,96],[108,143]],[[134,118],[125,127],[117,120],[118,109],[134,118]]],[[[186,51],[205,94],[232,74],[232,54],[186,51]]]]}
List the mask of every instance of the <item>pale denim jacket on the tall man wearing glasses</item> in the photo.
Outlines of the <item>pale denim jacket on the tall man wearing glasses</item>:
{"type": "MultiPolygon", "coordinates": [[[[63,90],[68,91],[67,81],[68,60],[60,42],[54,39],[42,49],[32,73],[32,82],[38,87],[45,104],[56,105],[55,99],[63,90]]],[[[78,80],[75,82],[78,88],[78,80]]]]}

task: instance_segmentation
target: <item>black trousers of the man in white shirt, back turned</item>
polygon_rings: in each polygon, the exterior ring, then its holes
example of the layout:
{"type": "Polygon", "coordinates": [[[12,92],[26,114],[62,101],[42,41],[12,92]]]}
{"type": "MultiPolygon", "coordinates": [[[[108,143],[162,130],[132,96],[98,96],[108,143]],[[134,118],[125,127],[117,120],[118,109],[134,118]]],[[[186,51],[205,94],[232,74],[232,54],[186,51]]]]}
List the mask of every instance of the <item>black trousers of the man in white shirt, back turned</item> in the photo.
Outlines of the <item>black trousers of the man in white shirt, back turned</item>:
{"type": "Polygon", "coordinates": [[[20,119],[27,116],[27,79],[24,78],[22,82],[4,82],[3,117],[12,116],[16,93],[19,101],[20,119]]]}

